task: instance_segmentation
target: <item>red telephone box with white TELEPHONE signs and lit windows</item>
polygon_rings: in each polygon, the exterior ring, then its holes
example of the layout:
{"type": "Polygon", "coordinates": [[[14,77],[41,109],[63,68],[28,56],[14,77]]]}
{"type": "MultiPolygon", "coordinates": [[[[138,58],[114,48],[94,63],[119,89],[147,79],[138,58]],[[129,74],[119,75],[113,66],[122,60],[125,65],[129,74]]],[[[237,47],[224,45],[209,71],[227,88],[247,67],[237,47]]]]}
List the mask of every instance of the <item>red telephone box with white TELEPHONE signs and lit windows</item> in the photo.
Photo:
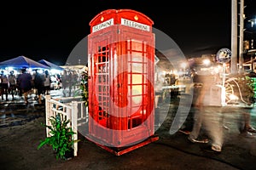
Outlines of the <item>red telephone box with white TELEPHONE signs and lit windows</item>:
{"type": "Polygon", "coordinates": [[[116,155],[154,135],[153,21],[131,9],[109,9],[90,21],[89,133],[116,155]]]}

